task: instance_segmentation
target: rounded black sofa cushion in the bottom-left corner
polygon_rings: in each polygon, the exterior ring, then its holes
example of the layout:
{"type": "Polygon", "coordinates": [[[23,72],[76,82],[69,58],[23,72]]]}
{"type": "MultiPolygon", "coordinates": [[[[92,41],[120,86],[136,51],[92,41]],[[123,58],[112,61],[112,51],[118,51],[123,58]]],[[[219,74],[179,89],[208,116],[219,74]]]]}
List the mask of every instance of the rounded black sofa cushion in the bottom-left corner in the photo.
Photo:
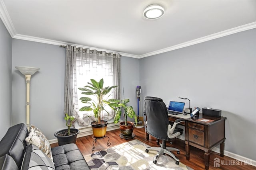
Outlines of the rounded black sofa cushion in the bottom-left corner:
{"type": "Polygon", "coordinates": [[[19,170],[19,168],[14,159],[10,155],[5,154],[0,157],[0,170],[19,170]]]}

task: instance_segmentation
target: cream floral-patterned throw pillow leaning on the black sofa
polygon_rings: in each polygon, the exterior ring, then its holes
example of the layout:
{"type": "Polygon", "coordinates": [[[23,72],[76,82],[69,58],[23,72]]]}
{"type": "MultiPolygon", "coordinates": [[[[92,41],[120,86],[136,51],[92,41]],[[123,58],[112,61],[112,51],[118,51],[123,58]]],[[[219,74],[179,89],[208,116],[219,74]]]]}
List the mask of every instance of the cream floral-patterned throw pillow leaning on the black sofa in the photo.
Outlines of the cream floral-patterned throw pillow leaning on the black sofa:
{"type": "Polygon", "coordinates": [[[39,149],[41,149],[53,162],[52,158],[52,150],[49,141],[44,136],[42,131],[35,127],[34,125],[30,125],[28,137],[26,137],[26,142],[28,144],[36,145],[39,149]]]}

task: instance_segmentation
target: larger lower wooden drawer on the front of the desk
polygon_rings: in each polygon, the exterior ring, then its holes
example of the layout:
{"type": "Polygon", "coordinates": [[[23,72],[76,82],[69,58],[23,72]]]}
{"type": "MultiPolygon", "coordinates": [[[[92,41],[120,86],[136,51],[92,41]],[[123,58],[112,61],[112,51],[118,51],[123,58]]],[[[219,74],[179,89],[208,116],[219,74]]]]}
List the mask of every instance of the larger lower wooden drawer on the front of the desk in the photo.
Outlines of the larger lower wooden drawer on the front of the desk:
{"type": "Polygon", "coordinates": [[[204,147],[204,132],[196,129],[188,129],[188,141],[194,142],[204,147]]]}

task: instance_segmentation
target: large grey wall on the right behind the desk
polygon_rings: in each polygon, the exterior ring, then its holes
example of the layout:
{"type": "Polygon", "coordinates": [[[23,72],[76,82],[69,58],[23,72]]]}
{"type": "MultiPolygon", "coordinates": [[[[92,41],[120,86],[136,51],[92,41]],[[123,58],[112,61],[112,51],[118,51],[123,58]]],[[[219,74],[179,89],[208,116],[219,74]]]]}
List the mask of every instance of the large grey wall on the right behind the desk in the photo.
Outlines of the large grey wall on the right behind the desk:
{"type": "Polygon", "coordinates": [[[142,95],[221,109],[228,118],[225,150],[256,160],[255,64],[256,29],[146,57],[142,95]]]}

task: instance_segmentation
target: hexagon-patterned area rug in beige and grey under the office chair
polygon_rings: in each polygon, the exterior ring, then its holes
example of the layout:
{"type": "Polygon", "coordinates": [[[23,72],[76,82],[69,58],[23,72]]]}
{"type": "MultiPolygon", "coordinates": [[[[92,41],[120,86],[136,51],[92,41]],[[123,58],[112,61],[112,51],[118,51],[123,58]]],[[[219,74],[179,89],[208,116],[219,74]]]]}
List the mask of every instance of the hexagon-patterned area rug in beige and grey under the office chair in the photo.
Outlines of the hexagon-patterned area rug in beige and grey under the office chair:
{"type": "Polygon", "coordinates": [[[193,170],[182,164],[175,164],[175,160],[168,155],[162,155],[157,163],[153,163],[157,151],[139,140],[133,140],[114,147],[109,147],[100,152],[84,156],[92,170],[193,170]]]}

